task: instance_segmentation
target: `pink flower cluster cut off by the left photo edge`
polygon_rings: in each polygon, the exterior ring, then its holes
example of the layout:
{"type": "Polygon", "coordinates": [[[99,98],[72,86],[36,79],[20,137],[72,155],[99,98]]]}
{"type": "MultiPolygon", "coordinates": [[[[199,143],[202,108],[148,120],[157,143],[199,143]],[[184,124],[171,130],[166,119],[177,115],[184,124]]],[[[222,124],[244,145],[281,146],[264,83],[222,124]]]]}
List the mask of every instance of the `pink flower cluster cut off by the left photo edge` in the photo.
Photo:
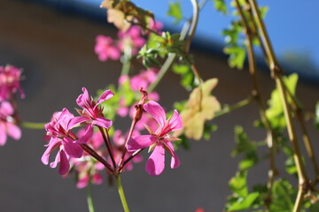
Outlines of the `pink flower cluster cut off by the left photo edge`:
{"type": "Polygon", "coordinates": [[[25,95],[19,85],[21,70],[12,65],[0,66],[0,146],[7,140],[7,134],[14,140],[21,138],[21,131],[16,125],[17,113],[14,94],[19,91],[20,97],[25,95]]]}

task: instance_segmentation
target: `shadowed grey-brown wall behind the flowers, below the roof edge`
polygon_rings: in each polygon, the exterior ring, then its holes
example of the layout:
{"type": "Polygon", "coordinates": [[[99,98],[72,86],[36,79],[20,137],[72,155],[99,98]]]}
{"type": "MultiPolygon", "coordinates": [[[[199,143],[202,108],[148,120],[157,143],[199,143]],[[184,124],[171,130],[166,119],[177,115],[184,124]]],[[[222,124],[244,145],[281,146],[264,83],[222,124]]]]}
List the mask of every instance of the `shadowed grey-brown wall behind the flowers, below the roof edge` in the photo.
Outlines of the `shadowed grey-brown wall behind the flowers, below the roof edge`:
{"type": "MultiPolygon", "coordinates": [[[[73,110],[81,87],[91,93],[115,83],[121,70],[118,62],[101,63],[93,48],[97,34],[115,31],[92,20],[59,14],[38,4],[13,0],[0,2],[0,64],[24,68],[23,88],[27,98],[19,101],[19,113],[25,121],[47,122],[56,110],[73,110]]],[[[246,70],[228,67],[224,57],[193,51],[199,72],[204,79],[220,79],[214,95],[222,103],[235,103],[249,95],[251,80],[246,70]]],[[[138,64],[135,68],[138,70],[138,64]]],[[[179,77],[169,74],[158,87],[161,103],[186,99],[179,87],[179,77]]],[[[269,97],[274,83],[267,72],[261,72],[262,91],[269,97]]],[[[307,110],[314,110],[319,99],[318,87],[300,83],[297,94],[307,110]]],[[[74,112],[74,110],[73,110],[74,112]]],[[[191,142],[191,151],[177,151],[182,165],[167,169],[159,177],[150,177],[140,163],[123,173],[122,182],[132,211],[222,211],[227,183],[237,170],[237,158],[230,158],[234,146],[234,125],[242,124],[253,140],[265,136],[253,129],[258,118],[252,104],[214,120],[219,126],[211,140],[191,142]]],[[[115,123],[116,125],[116,123],[115,123]]],[[[318,152],[318,135],[313,134],[318,152]]],[[[61,178],[58,170],[44,166],[44,131],[23,130],[21,140],[8,140],[0,148],[0,211],[87,211],[86,191],[75,187],[73,178],[61,178]]],[[[265,151],[264,151],[265,152],[265,151]]],[[[147,158],[147,155],[144,155],[147,158]]],[[[168,159],[168,158],[167,158],[168,159]]],[[[277,157],[283,167],[284,156],[277,157]]],[[[256,166],[250,175],[253,183],[267,179],[268,163],[256,166]]],[[[121,202],[114,188],[105,183],[93,187],[97,211],[121,211],[121,202]]]]}

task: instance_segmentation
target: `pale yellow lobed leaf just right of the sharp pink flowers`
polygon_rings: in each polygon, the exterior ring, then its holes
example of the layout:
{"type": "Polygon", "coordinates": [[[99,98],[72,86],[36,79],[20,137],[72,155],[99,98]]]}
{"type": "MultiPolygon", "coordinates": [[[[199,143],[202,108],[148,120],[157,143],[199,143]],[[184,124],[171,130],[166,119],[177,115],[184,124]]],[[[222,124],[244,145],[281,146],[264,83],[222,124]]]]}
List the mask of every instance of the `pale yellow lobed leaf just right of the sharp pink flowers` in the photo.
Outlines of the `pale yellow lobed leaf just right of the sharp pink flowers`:
{"type": "MultiPolygon", "coordinates": [[[[190,139],[199,140],[203,135],[206,120],[213,119],[214,113],[221,110],[220,102],[210,95],[217,82],[218,79],[208,79],[201,87],[196,87],[191,92],[186,109],[181,112],[183,132],[190,139]]],[[[179,133],[181,132],[176,132],[175,136],[179,133]]]]}

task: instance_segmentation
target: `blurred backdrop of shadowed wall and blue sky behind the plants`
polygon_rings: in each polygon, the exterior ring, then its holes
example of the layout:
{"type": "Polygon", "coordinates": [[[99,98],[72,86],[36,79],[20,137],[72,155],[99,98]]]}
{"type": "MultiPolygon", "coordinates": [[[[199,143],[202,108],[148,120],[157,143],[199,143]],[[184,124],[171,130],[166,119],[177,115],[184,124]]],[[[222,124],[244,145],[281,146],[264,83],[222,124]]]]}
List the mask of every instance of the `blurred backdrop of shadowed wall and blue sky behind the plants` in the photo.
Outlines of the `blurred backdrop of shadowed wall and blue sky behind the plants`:
{"type": "MultiPolygon", "coordinates": [[[[170,19],[164,18],[166,1],[135,2],[149,10],[156,9],[155,15],[164,21],[167,29],[178,30],[169,24],[170,19]]],[[[186,14],[191,4],[182,2],[186,14]]],[[[315,12],[318,3],[312,1],[300,6],[297,2],[261,1],[261,4],[270,6],[266,23],[285,69],[305,72],[297,95],[305,110],[314,111],[319,99],[319,44],[315,42],[319,30],[314,24],[318,19],[315,12]]],[[[99,9],[99,4],[96,0],[0,1],[0,64],[13,64],[24,70],[22,87],[27,98],[19,101],[22,120],[48,122],[54,111],[64,107],[75,113],[75,99],[82,93],[82,87],[94,94],[98,88],[117,82],[121,64],[102,63],[94,53],[97,34],[115,37],[117,33],[106,23],[105,10],[99,9]]],[[[237,71],[228,66],[227,57],[222,54],[220,32],[230,18],[222,17],[212,7],[211,2],[207,4],[200,17],[202,22],[191,53],[203,79],[220,79],[213,92],[217,99],[222,104],[232,104],[250,95],[251,80],[246,69],[237,71]]],[[[138,71],[142,66],[134,68],[138,71]]],[[[274,83],[262,63],[260,69],[262,91],[268,98],[274,83]]],[[[159,84],[160,103],[167,109],[172,102],[188,98],[189,93],[180,87],[179,80],[179,76],[169,73],[159,84]]],[[[167,166],[159,177],[150,177],[144,171],[144,160],[134,170],[123,173],[122,183],[131,210],[186,212],[202,207],[206,211],[222,211],[230,194],[228,181],[237,170],[237,158],[230,157],[234,126],[243,125],[252,140],[262,140],[265,136],[264,131],[253,128],[253,120],[259,117],[256,109],[252,104],[215,119],[218,131],[212,134],[211,140],[192,141],[190,151],[178,149],[182,164],[176,170],[167,166]]],[[[318,134],[314,133],[312,123],[308,128],[319,155],[318,134]]],[[[21,140],[8,140],[0,148],[0,211],[87,211],[86,190],[77,189],[73,178],[61,178],[58,170],[41,163],[44,131],[23,129],[22,133],[21,140]]],[[[147,158],[145,153],[144,158],[147,158]]],[[[284,155],[276,158],[281,170],[284,170],[284,159],[284,155]]],[[[250,183],[265,182],[267,173],[268,163],[259,163],[249,176],[250,183]]],[[[93,186],[93,198],[97,212],[122,211],[116,189],[107,183],[93,186]]]]}

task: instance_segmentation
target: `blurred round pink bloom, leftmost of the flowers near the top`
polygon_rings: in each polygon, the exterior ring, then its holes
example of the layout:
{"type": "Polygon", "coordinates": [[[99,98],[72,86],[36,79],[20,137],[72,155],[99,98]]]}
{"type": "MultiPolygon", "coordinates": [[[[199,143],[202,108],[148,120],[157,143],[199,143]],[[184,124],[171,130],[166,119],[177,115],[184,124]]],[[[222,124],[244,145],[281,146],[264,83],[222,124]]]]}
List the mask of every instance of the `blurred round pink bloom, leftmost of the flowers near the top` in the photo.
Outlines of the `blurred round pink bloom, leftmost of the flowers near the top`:
{"type": "Polygon", "coordinates": [[[114,45],[111,37],[97,35],[96,46],[94,48],[100,61],[106,61],[109,58],[118,60],[121,57],[121,50],[114,45]]]}

